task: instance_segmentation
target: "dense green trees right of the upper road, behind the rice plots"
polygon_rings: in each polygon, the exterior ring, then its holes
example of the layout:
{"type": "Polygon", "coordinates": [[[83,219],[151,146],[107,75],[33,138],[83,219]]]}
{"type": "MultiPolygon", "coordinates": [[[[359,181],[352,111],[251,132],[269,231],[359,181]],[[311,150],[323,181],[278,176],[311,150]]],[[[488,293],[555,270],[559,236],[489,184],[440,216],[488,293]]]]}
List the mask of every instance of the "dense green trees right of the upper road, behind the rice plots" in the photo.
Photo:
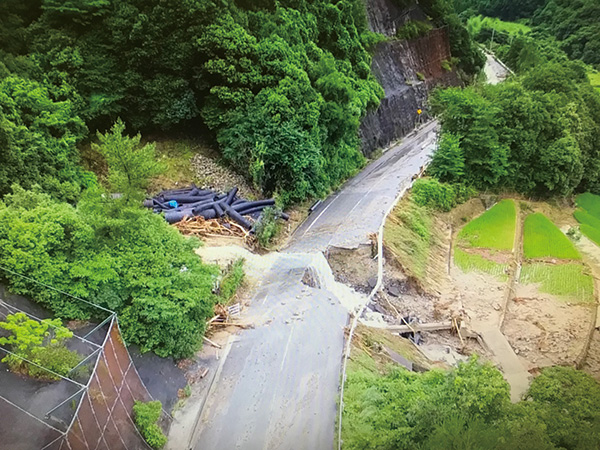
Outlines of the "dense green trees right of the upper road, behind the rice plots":
{"type": "MultiPolygon", "coordinates": [[[[529,11],[533,27],[477,17],[470,21],[473,38],[493,45],[515,75],[498,85],[475,84],[434,95],[431,108],[442,124],[442,137],[430,167],[435,179],[417,186],[421,204],[447,210],[453,204],[450,187],[463,185],[535,198],[600,192],[600,92],[590,84],[594,69],[586,64],[593,60],[584,61],[583,51],[566,51],[574,46],[549,34],[549,22],[534,25],[558,3],[571,5],[572,18],[583,14],[574,23],[580,31],[589,29],[585,8],[591,2],[458,2],[463,16],[516,18],[529,11]]],[[[600,33],[585,46],[593,46],[596,38],[600,33]]]]}

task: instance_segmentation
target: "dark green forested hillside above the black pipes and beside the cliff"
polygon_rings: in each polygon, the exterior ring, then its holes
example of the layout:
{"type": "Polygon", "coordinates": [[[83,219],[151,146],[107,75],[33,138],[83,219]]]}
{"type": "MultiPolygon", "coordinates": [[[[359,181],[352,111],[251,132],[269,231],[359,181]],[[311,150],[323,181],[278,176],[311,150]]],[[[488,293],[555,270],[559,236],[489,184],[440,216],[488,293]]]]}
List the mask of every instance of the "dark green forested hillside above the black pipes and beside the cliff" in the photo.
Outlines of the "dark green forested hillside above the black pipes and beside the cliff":
{"type": "MultiPolygon", "coordinates": [[[[449,4],[419,5],[472,75],[482,59],[449,4]]],[[[358,127],[383,96],[369,53],[382,39],[362,0],[5,0],[0,195],[18,182],[76,199],[94,182],[76,145],[120,117],[133,132],[210,136],[284,204],[323,196],[365,162],[358,127]]]]}

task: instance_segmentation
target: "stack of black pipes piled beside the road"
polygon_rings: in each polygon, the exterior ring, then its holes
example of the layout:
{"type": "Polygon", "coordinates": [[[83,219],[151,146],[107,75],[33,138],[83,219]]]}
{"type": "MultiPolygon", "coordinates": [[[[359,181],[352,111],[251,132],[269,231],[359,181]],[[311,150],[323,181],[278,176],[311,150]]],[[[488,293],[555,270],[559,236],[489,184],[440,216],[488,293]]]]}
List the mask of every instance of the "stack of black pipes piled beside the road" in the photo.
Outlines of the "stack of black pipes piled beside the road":
{"type": "MultiPolygon", "coordinates": [[[[257,217],[267,206],[275,205],[275,200],[248,201],[237,197],[237,188],[226,194],[220,194],[210,189],[198,189],[192,185],[185,189],[162,191],[155,197],[144,201],[144,206],[153,208],[154,212],[165,213],[169,223],[176,223],[185,217],[202,216],[205,219],[228,216],[247,230],[252,224],[243,216],[257,217]]],[[[287,214],[281,214],[282,219],[289,219],[287,214]]]]}

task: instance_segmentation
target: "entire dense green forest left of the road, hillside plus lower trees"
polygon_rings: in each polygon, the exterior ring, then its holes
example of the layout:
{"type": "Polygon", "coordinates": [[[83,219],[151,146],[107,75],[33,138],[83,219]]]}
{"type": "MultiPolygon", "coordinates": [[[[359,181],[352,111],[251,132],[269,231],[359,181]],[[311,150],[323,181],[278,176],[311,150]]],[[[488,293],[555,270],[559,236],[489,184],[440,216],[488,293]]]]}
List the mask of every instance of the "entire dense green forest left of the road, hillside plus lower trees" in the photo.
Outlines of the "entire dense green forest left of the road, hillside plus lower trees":
{"type": "MultiPolygon", "coordinates": [[[[420,7],[472,78],[482,57],[450,4],[420,7]]],[[[215,286],[234,291],[241,269],[204,265],[198,242],[141,210],[161,167],[137,133],[201,135],[281,205],[323,196],[365,163],[358,127],[383,96],[371,52],[384,39],[362,0],[1,2],[0,263],[117,311],[143,350],[192,354],[215,286]],[[98,173],[82,165],[90,144],[98,173]]],[[[3,281],[63,319],[95,318],[3,281]]]]}

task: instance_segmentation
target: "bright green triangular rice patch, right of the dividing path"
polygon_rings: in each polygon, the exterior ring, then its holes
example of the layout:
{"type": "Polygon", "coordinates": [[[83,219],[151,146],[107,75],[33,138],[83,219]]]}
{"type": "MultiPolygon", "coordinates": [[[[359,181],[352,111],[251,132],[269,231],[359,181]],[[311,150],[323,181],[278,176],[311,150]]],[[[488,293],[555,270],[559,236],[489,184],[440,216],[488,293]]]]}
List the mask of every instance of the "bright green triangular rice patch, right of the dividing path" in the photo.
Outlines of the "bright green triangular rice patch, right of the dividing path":
{"type": "Polygon", "coordinates": [[[530,214],[525,219],[523,254],[530,259],[581,259],[569,238],[542,213],[530,214]]]}

